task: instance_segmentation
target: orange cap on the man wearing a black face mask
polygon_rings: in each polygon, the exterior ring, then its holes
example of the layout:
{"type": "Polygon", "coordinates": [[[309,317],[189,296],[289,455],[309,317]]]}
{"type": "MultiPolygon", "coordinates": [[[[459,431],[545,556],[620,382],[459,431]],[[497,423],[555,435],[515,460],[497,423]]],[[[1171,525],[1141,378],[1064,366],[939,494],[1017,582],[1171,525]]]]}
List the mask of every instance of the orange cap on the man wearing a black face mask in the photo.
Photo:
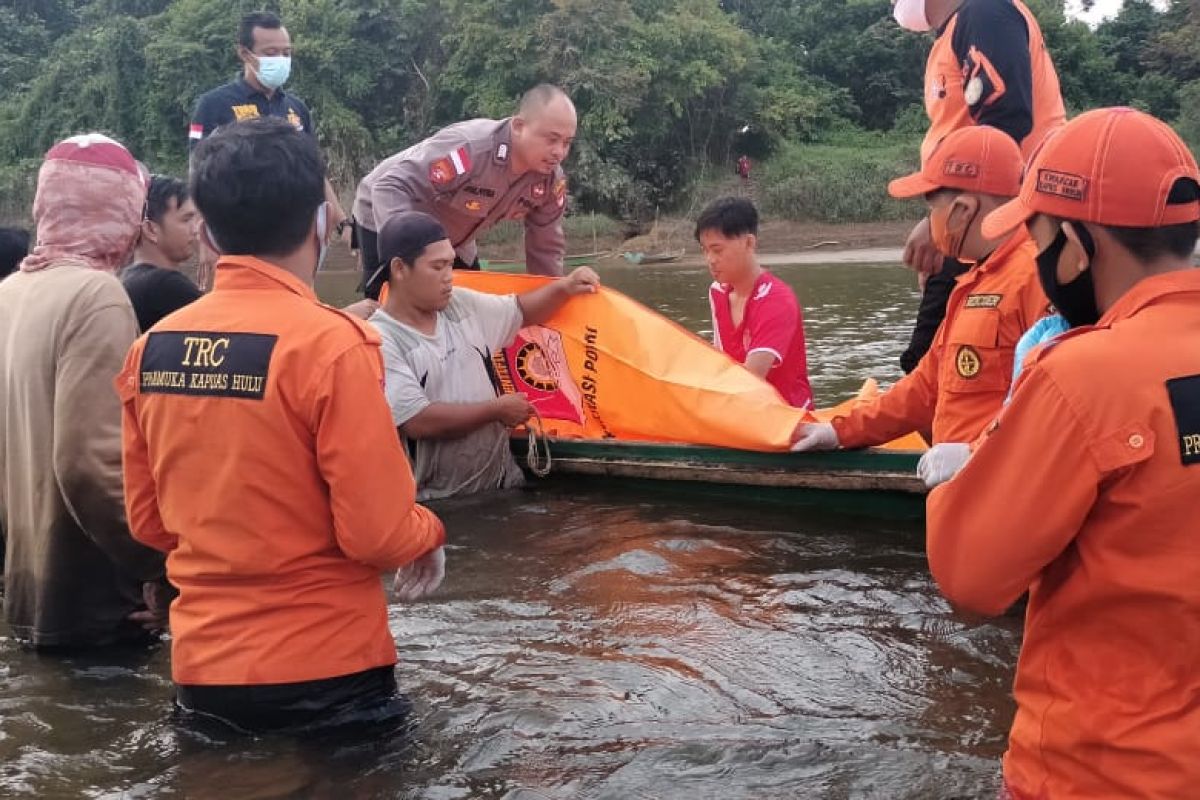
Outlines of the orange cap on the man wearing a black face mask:
{"type": "Polygon", "coordinates": [[[1099,108],[1042,145],[1020,196],[988,215],[983,235],[997,239],[1036,213],[1121,228],[1200,219],[1200,201],[1166,204],[1181,178],[1200,184],[1200,170],[1169,125],[1132,108],[1099,108]]]}

